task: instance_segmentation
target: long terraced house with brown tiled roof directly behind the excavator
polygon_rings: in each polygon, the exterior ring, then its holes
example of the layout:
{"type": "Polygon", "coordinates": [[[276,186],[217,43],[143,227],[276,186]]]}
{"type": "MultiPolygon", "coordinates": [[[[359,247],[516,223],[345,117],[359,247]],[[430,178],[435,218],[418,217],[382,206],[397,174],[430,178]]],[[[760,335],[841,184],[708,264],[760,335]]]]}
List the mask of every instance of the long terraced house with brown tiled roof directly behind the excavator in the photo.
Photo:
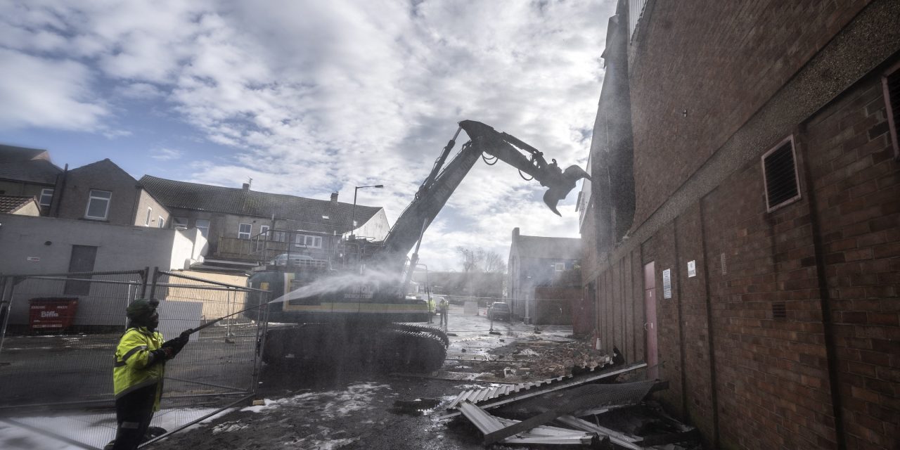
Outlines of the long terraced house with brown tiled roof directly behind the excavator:
{"type": "Polygon", "coordinates": [[[338,193],[315,200],[151,175],[140,184],[172,211],[173,227],[195,227],[208,238],[207,266],[246,270],[282,254],[328,260],[351,231],[365,242],[383,240],[390,229],[383,208],[338,202],[338,193]]]}

